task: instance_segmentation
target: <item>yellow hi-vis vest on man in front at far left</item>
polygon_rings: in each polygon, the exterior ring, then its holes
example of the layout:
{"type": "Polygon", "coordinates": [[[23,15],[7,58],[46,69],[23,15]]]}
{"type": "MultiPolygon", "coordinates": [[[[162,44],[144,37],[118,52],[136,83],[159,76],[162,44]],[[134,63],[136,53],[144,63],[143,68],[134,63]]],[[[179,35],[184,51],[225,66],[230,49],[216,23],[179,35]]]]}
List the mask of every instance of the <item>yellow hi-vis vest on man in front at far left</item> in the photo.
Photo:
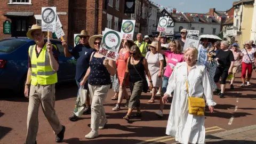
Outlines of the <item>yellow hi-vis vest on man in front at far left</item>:
{"type": "MultiPolygon", "coordinates": [[[[52,47],[57,49],[55,45],[52,47]]],[[[41,50],[38,58],[36,57],[36,45],[29,47],[29,57],[31,60],[31,84],[48,85],[58,82],[57,71],[54,71],[50,65],[49,53],[46,50],[46,44],[41,50]]]]}

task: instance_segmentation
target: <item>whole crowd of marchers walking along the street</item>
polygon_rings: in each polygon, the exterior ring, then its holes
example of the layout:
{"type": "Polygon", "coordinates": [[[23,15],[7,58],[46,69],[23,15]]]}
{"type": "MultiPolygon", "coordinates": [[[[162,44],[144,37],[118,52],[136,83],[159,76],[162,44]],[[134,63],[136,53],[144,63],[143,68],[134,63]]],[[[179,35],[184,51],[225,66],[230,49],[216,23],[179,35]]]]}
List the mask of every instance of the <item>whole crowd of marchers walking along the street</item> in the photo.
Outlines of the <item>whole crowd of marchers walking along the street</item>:
{"type": "MultiPolygon", "coordinates": [[[[164,105],[171,100],[171,110],[166,127],[166,134],[175,137],[180,143],[204,143],[204,107],[209,106],[213,113],[216,103],[213,92],[224,98],[227,78],[230,88],[234,89],[235,74],[242,63],[242,84],[250,85],[252,70],[255,69],[256,49],[253,42],[247,41],[244,49],[239,50],[235,42],[214,41],[203,38],[198,47],[186,47],[187,30],[182,29],[181,38],[168,43],[165,35],[154,38],[137,34],[137,41],[122,39],[119,57],[116,61],[99,54],[102,35],[89,36],[82,30],[80,44],[68,50],[66,41],[62,41],[66,57],[74,57],[76,65],[76,83],[79,89],[87,90],[83,114],[91,114],[91,132],[87,139],[99,136],[98,130],[108,123],[103,103],[110,86],[117,100],[114,111],[128,107],[123,119],[142,117],[140,96],[150,90],[149,103],[154,103],[156,95],[161,95],[159,110],[163,116],[164,105]],[[231,75],[231,76],[230,76],[231,75]],[[233,75],[233,76],[232,76],[233,75]],[[131,95],[126,91],[131,90],[131,95]],[[171,99],[169,99],[171,97],[171,99]],[[136,113],[132,115],[133,109],[136,113]]],[[[58,50],[51,42],[45,42],[40,26],[33,25],[27,36],[34,39],[35,45],[29,48],[29,69],[25,86],[25,96],[29,98],[26,143],[36,143],[38,131],[38,107],[41,103],[44,115],[49,121],[56,142],[64,138],[65,126],[61,125],[55,114],[55,83],[57,83],[58,50]],[[30,86],[30,91],[29,91],[30,86]]],[[[70,121],[77,121],[76,108],[69,116],[70,121]]]]}

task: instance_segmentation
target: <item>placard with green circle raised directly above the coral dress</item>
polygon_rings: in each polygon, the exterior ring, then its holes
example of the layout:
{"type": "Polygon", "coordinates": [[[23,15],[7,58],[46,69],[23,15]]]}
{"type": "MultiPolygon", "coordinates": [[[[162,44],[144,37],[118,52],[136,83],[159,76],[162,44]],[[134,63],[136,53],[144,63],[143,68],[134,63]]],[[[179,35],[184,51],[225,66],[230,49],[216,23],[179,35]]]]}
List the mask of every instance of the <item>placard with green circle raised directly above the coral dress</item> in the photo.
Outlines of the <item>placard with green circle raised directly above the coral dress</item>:
{"type": "Polygon", "coordinates": [[[123,34],[123,38],[132,40],[134,27],[135,20],[123,20],[121,27],[121,33],[123,34]]]}

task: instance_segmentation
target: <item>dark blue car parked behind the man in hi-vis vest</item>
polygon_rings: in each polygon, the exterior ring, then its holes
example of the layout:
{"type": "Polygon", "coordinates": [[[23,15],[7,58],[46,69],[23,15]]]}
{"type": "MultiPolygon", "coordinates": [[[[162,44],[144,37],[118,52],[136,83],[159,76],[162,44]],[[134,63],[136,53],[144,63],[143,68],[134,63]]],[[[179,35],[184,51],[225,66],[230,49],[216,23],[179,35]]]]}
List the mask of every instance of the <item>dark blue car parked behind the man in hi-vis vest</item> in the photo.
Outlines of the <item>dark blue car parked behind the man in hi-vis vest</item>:
{"type": "MultiPolygon", "coordinates": [[[[60,41],[51,40],[59,51],[58,82],[74,81],[76,60],[66,58],[60,41]]],[[[5,38],[0,41],[0,89],[23,94],[28,71],[28,49],[35,42],[29,38],[5,38]]],[[[73,47],[68,46],[69,49],[73,47]]]]}

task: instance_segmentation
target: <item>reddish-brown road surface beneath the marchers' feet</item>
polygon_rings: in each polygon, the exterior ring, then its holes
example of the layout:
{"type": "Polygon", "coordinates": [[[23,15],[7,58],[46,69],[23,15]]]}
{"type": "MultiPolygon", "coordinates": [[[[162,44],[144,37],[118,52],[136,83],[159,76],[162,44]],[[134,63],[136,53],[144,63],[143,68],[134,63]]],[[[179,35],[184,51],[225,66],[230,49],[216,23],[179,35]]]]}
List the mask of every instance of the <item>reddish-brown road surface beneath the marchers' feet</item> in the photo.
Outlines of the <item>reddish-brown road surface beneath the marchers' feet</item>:
{"type": "MultiPolygon", "coordinates": [[[[253,71],[251,86],[241,88],[238,87],[240,84],[241,79],[237,75],[234,84],[235,89],[230,90],[227,85],[224,99],[214,95],[214,101],[217,102],[214,113],[209,113],[209,110],[206,109],[207,143],[255,143],[256,130],[250,128],[256,125],[255,71],[253,71]],[[246,129],[246,126],[250,126],[250,129],[246,129]],[[239,132],[239,130],[241,131],[239,132]],[[220,134],[218,135],[218,133],[220,134]]],[[[106,129],[99,130],[99,138],[87,140],[84,135],[91,131],[90,115],[83,115],[77,122],[70,122],[68,119],[74,109],[76,93],[75,82],[57,84],[56,86],[55,110],[61,123],[66,126],[65,138],[62,143],[171,144],[175,142],[175,138],[165,134],[171,103],[167,103],[165,106],[164,117],[159,118],[155,114],[159,109],[159,96],[155,103],[147,103],[150,99],[150,93],[142,93],[140,98],[142,118],[132,119],[130,123],[127,123],[122,119],[127,108],[121,107],[120,111],[111,110],[116,103],[116,101],[111,100],[114,95],[113,90],[109,90],[104,105],[108,119],[106,129]]],[[[128,93],[130,94],[130,90],[128,93]]],[[[23,143],[26,139],[28,99],[14,96],[2,91],[0,93],[0,143],[23,143]]],[[[55,135],[42,109],[39,109],[38,119],[37,143],[55,143],[55,135]]]]}

